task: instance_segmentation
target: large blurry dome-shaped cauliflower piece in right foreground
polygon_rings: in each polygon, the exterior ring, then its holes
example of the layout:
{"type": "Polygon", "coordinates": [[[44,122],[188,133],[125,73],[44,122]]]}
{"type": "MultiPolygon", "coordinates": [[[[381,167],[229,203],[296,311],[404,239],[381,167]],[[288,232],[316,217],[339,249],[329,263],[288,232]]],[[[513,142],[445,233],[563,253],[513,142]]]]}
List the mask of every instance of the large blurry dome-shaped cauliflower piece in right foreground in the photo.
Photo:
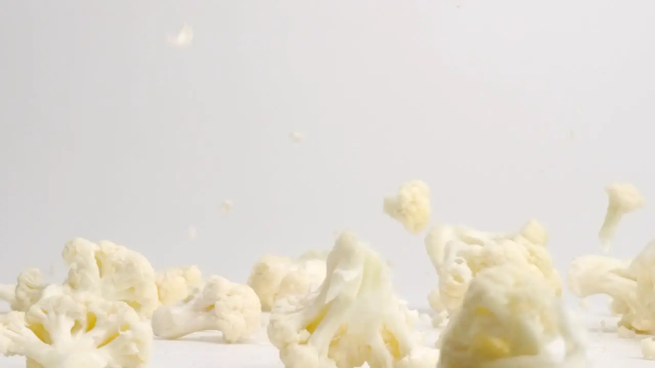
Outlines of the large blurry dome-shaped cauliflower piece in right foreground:
{"type": "Polygon", "coordinates": [[[543,281],[515,265],[477,274],[440,337],[438,368],[584,367],[582,340],[543,281]],[[563,362],[546,349],[557,339],[567,346],[563,362]]]}

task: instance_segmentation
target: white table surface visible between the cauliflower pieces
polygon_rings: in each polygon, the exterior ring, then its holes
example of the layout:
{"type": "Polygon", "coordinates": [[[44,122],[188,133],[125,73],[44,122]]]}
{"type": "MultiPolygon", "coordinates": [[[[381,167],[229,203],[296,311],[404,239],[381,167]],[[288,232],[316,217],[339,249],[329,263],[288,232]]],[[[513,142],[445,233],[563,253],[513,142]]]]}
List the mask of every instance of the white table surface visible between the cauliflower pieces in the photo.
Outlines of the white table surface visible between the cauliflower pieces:
{"type": "MultiPolygon", "coordinates": [[[[601,320],[612,319],[600,314],[584,314],[578,321],[588,331],[588,356],[591,367],[655,367],[655,361],[641,357],[639,340],[620,339],[616,333],[599,333],[601,320]]],[[[266,317],[263,318],[265,326],[266,317]]],[[[426,344],[434,344],[440,329],[433,329],[422,323],[426,331],[426,344]]],[[[25,359],[21,357],[0,357],[1,368],[24,368],[25,359]]],[[[151,368],[282,368],[278,350],[267,340],[265,327],[248,344],[224,344],[219,333],[204,332],[189,335],[181,340],[155,340],[151,368]]]]}

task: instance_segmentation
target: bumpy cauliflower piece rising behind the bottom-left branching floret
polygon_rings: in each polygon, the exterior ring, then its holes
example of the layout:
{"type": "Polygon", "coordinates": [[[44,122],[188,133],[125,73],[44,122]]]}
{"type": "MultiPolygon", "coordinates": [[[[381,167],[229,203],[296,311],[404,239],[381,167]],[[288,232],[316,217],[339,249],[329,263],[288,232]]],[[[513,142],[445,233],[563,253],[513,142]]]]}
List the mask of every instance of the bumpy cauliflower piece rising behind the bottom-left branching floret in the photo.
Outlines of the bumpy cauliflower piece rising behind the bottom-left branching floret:
{"type": "Polygon", "coordinates": [[[145,318],[159,306],[155,270],[141,253],[107,240],[94,244],[75,238],[66,243],[62,257],[69,268],[66,284],[73,291],[123,301],[145,318]]]}

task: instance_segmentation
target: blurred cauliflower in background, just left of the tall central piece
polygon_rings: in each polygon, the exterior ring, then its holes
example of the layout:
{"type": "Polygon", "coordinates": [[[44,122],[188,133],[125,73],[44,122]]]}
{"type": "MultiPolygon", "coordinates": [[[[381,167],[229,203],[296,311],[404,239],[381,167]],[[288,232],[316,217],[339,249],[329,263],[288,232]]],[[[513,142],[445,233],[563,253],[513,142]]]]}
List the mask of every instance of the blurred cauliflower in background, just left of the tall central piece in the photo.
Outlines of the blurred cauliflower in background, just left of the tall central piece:
{"type": "Polygon", "coordinates": [[[305,295],[318,289],[325,279],[324,253],[308,251],[295,260],[290,257],[266,255],[259,259],[250,272],[248,285],[253,288],[265,312],[278,296],[305,295]]]}

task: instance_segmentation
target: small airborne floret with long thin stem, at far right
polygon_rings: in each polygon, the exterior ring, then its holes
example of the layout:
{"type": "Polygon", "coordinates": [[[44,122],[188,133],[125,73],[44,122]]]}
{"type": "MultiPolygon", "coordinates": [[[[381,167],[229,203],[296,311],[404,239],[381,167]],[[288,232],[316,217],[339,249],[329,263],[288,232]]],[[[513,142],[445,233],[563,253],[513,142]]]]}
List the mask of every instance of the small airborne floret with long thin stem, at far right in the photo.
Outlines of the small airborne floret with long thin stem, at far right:
{"type": "Polygon", "coordinates": [[[608,196],[607,213],[598,238],[601,240],[603,251],[607,253],[621,218],[629,212],[642,208],[646,200],[639,189],[629,183],[612,184],[605,191],[608,196]]]}

